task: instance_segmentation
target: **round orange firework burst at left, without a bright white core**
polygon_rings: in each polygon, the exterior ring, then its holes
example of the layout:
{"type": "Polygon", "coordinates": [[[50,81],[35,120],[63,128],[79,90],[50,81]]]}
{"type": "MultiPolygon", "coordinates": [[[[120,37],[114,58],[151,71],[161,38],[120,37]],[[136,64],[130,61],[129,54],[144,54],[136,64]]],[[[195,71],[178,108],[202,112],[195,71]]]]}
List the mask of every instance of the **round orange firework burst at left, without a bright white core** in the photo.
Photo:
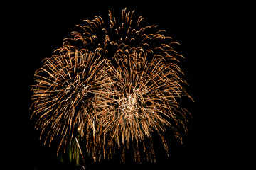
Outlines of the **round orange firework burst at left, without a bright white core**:
{"type": "Polygon", "coordinates": [[[77,133],[83,137],[87,129],[93,129],[95,94],[100,93],[100,86],[110,84],[110,68],[104,64],[104,59],[87,50],[63,48],[36,71],[33,115],[41,135],[47,131],[46,140],[59,135],[61,146],[77,133]]]}

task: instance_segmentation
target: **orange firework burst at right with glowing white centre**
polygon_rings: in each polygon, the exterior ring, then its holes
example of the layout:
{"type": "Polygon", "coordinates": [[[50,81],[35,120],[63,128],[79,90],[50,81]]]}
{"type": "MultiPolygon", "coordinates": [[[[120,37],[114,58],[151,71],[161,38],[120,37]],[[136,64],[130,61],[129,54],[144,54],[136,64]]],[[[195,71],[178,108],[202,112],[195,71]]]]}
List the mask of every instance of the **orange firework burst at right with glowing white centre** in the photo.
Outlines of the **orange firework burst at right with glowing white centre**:
{"type": "Polygon", "coordinates": [[[182,142],[178,128],[186,131],[187,111],[178,106],[176,98],[183,94],[184,81],[178,77],[177,70],[158,57],[147,62],[147,55],[136,49],[118,53],[114,59],[117,67],[112,69],[112,79],[115,81],[102,89],[97,100],[98,106],[105,108],[100,113],[105,120],[102,129],[110,135],[111,146],[125,151],[132,143],[135,161],[140,161],[139,152],[143,152],[153,162],[152,133],[159,135],[166,151],[166,127],[182,142]]]}

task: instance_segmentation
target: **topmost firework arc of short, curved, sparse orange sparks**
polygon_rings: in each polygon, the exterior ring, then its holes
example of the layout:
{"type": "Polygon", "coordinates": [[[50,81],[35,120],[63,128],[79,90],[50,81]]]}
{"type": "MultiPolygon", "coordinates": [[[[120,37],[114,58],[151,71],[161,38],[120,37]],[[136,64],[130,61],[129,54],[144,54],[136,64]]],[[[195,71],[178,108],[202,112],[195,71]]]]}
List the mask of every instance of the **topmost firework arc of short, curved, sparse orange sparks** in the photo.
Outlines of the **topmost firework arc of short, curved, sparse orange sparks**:
{"type": "Polygon", "coordinates": [[[165,30],[158,30],[154,25],[142,26],[144,18],[139,16],[136,20],[133,17],[134,11],[127,12],[125,8],[120,21],[110,11],[108,22],[100,16],[95,16],[92,21],[84,20],[85,25],[77,25],[78,31],[73,31],[70,38],[65,38],[63,46],[97,52],[112,62],[118,52],[132,48],[148,54],[148,60],[156,56],[161,60],[176,60],[176,56],[181,56],[171,47],[178,42],[163,35],[165,30]]]}

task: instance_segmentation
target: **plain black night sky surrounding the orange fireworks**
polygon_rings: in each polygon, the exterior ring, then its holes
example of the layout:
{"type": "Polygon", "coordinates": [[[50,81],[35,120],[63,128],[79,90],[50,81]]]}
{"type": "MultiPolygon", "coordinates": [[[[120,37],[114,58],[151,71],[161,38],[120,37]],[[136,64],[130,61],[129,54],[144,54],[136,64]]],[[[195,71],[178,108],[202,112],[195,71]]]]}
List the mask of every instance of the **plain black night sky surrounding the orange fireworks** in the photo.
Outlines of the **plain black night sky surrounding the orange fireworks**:
{"type": "Polygon", "coordinates": [[[94,16],[107,18],[107,10],[119,16],[125,7],[180,42],[176,51],[186,57],[180,66],[195,101],[185,105],[193,119],[183,145],[178,141],[169,144],[169,157],[159,154],[154,164],[121,163],[119,158],[92,164],[88,159],[87,169],[255,169],[255,125],[249,109],[252,95],[247,96],[253,91],[248,85],[252,67],[246,64],[250,45],[243,41],[250,28],[249,4],[41,1],[8,7],[6,30],[2,31],[6,38],[2,55],[6,57],[1,60],[5,96],[0,169],[76,169],[74,164],[60,162],[56,148],[44,146],[33,129],[29,111],[33,74],[76,24],[94,16]]]}

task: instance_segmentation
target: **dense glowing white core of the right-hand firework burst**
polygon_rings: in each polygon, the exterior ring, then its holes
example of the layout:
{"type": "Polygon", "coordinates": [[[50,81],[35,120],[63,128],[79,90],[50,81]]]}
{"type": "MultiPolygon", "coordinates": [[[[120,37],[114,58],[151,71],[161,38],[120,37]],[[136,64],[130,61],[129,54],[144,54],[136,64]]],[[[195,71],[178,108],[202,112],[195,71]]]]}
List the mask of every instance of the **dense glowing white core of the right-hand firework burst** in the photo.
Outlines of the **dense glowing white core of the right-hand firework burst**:
{"type": "Polygon", "coordinates": [[[139,114],[137,95],[126,94],[126,96],[119,100],[119,108],[124,119],[132,120],[136,118],[139,114]]]}

